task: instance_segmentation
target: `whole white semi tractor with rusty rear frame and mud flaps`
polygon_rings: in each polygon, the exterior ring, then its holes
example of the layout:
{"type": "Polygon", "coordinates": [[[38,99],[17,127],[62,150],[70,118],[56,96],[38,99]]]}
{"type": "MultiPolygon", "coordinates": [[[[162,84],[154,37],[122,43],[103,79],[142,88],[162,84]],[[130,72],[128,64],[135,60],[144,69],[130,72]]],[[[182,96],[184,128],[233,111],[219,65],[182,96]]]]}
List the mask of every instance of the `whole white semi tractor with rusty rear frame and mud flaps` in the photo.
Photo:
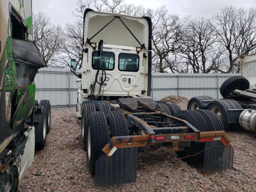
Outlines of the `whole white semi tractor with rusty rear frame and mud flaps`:
{"type": "MultiPolygon", "coordinates": [[[[181,110],[151,94],[152,22],[86,9],[77,117],[95,186],[136,181],[137,153],[172,148],[205,171],[230,169],[234,150],[216,114],[181,110]]],[[[171,163],[171,162],[170,162],[171,163]]]]}

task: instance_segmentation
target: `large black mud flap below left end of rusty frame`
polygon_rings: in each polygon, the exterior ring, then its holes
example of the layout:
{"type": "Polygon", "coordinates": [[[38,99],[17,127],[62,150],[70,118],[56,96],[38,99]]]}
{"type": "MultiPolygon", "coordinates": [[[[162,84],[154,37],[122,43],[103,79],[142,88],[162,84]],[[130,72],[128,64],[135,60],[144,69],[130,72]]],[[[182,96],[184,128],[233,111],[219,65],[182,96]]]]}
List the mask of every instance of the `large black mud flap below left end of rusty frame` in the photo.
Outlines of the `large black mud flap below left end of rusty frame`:
{"type": "Polygon", "coordinates": [[[137,147],[119,148],[109,157],[103,154],[95,166],[95,186],[136,182],[137,147]]]}

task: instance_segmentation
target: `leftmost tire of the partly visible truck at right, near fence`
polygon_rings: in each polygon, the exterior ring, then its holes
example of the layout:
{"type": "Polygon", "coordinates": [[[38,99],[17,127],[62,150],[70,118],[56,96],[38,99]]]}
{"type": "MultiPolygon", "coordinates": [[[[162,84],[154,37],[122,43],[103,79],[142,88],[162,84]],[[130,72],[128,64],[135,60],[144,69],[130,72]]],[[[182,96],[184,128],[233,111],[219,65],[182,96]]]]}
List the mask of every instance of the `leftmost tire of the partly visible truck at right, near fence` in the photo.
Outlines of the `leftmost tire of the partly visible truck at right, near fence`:
{"type": "Polygon", "coordinates": [[[213,100],[211,96],[197,96],[193,97],[188,102],[188,110],[199,110],[199,109],[205,109],[207,106],[206,102],[203,102],[204,100],[213,100]],[[205,104],[205,105],[204,105],[205,104]]]}

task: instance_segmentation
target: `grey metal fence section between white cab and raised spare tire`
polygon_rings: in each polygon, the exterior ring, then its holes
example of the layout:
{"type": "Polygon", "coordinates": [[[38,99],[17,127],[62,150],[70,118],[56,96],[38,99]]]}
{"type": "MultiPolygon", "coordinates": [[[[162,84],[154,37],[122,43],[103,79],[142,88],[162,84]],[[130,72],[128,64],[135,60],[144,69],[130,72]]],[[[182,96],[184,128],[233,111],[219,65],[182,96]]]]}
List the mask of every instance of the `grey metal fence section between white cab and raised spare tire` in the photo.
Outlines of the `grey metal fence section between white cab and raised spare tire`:
{"type": "Polygon", "coordinates": [[[203,95],[222,98],[220,86],[226,79],[237,75],[240,74],[154,73],[151,96],[154,100],[160,100],[168,95],[179,95],[188,99],[203,95]]]}

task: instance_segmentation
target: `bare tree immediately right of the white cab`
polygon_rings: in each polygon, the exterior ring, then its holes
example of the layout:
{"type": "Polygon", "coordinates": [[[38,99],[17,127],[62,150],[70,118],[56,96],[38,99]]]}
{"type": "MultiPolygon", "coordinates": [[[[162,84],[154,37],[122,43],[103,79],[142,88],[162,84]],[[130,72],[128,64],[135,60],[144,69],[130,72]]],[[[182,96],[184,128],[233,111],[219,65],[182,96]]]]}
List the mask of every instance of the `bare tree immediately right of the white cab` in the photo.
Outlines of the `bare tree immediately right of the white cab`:
{"type": "Polygon", "coordinates": [[[152,20],[152,43],[153,65],[155,71],[164,73],[180,72],[176,66],[175,50],[178,48],[177,34],[186,22],[187,18],[181,19],[176,14],[169,14],[166,6],[162,6],[153,14],[152,20]]]}

